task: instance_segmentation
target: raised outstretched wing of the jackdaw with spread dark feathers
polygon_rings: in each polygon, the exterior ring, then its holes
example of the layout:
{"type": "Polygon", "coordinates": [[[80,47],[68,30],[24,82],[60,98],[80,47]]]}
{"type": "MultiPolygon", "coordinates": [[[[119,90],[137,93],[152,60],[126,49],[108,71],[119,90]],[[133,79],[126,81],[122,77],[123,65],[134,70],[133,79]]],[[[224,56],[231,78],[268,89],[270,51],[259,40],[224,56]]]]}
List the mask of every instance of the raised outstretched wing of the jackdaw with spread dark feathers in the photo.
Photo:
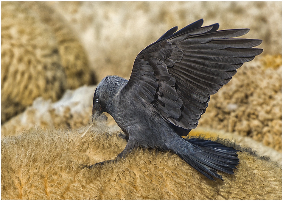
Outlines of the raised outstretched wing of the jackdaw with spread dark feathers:
{"type": "Polygon", "coordinates": [[[196,128],[210,95],[263,51],[253,48],[262,40],[234,38],[249,29],[217,31],[218,23],[202,24],[200,19],[178,32],[174,27],[142,50],[123,89],[152,103],[180,136],[196,128]]]}

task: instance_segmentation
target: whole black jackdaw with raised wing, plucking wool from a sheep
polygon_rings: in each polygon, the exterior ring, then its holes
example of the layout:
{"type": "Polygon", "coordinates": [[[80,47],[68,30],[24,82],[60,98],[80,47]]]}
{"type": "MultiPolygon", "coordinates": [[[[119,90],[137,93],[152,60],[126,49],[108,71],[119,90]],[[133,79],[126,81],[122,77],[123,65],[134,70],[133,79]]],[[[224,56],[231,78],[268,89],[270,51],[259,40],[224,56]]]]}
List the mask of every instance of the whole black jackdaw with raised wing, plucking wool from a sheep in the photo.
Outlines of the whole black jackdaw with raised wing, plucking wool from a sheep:
{"type": "Polygon", "coordinates": [[[202,24],[200,19],[178,32],[175,26],[147,46],[136,57],[129,80],[107,76],[98,84],[93,121],[107,112],[129,137],[117,158],[136,147],[161,148],[176,153],[209,179],[223,180],[217,171],[234,174],[237,150],[181,136],[197,127],[210,95],[227,84],[244,62],[262,53],[253,48],[262,40],[234,38],[249,29],[217,31],[218,23],[202,24]]]}

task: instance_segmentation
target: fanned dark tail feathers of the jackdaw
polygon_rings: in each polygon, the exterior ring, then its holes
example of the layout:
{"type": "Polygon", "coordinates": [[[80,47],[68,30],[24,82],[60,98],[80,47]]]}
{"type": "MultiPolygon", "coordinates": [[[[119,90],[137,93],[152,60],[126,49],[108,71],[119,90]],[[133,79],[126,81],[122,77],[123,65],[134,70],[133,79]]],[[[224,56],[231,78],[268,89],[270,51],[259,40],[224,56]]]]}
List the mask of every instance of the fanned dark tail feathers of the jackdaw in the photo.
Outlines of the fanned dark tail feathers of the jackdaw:
{"type": "Polygon", "coordinates": [[[214,180],[213,177],[215,177],[223,181],[217,171],[234,174],[234,169],[237,169],[236,166],[239,164],[238,150],[226,147],[218,142],[192,138],[182,140],[181,144],[178,145],[177,150],[179,151],[174,152],[211,180],[214,180]]]}

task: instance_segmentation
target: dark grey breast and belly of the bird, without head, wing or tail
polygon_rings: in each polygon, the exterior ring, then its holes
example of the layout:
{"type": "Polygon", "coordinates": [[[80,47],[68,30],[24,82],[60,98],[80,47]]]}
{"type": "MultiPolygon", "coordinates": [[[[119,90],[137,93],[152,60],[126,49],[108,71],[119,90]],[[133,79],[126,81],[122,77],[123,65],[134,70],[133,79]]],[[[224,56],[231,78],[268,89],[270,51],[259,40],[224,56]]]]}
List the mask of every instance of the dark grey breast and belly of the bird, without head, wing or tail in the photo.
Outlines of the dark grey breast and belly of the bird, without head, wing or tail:
{"type": "Polygon", "coordinates": [[[164,134],[176,135],[174,130],[152,104],[140,97],[137,90],[121,92],[113,102],[113,111],[108,113],[129,137],[128,146],[134,143],[135,146],[168,150],[164,134]]]}

